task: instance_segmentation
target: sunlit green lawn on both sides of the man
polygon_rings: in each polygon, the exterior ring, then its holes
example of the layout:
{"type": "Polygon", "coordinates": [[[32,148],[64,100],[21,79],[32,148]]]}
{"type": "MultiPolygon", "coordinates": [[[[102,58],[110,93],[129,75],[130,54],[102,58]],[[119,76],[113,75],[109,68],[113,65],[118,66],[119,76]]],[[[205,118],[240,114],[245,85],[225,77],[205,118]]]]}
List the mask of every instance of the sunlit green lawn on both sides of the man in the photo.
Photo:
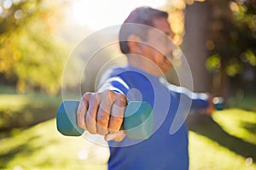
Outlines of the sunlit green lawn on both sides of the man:
{"type": "MultiPolygon", "coordinates": [[[[8,135],[1,131],[0,169],[107,168],[108,148],[57,132],[55,118],[49,117],[55,116],[58,102],[59,98],[41,94],[0,94],[0,109],[15,105],[10,107],[12,114],[21,114],[19,108],[26,111],[32,103],[38,110],[30,107],[27,113],[48,116],[36,125],[11,128],[8,135]]],[[[203,119],[202,124],[189,127],[191,170],[256,169],[255,111],[230,108],[203,119]]]]}

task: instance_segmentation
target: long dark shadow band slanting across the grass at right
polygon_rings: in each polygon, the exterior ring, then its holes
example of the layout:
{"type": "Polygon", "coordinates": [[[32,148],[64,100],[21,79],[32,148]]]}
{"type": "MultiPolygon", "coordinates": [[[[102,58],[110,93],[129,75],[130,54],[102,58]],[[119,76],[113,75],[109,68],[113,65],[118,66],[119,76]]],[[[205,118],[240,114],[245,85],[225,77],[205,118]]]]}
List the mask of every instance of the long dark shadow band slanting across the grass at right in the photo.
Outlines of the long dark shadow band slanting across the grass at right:
{"type": "Polygon", "coordinates": [[[226,133],[211,116],[193,115],[188,117],[189,130],[214,140],[225,148],[244,157],[256,160],[256,145],[226,133]]]}

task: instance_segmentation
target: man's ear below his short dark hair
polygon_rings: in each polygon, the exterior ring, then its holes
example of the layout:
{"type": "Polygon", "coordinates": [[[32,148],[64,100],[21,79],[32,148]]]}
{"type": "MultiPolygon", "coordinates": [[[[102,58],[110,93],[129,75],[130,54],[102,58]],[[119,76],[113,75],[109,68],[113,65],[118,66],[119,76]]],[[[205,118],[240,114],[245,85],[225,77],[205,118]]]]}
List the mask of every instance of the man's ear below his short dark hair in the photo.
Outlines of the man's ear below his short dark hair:
{"type": "Polygon", "coordinates": [[[131,34],[127,38],[128,47],[130,48],[131,54],[141,54],[142,50],[142,38],[138,37],[137,35],[131,34]]]}

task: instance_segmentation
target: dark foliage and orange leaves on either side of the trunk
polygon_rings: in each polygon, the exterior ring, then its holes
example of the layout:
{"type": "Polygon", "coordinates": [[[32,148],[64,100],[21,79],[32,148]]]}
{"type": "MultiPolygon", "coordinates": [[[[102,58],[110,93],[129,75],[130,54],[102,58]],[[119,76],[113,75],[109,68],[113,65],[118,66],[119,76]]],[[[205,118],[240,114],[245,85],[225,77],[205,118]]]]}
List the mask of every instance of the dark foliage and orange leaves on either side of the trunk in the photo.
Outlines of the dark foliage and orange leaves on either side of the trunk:
{"type": "MultiPolygon", "coordinates": [[[[209,16],[207,22],[199,21],[208,27],[207,38],[195,39],[195,41],[207,39],[206,42],[201,42],[205,46],[195,50],[207,49],[206,67],[212,76],[212,93],[226,96],[227,89],[230,88],[254,91],[256,84],[255,0],[169,0],[164,9],[170,13],[172,30],[176,33],[174,41],[178,45],[183,43],[185,29],[188,33],[190,29],[189,21],[187,25],[183,24],[184,11],[194,3],[205,3],[206,15],[209,16]],[[184,29],[184,26],[187,27],[184,29]]],[[[197,12],[195,11],[195,14],[197,12]]]]}

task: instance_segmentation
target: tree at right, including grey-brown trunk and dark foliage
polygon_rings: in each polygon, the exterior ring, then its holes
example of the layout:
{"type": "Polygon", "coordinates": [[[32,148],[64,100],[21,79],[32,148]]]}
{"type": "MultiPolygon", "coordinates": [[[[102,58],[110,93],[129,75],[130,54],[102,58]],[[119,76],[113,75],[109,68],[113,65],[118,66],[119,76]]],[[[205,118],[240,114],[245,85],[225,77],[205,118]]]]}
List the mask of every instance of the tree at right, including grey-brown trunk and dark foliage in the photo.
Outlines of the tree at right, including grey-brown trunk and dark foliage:
{"type": "Polygon", "coordinates": [[[180,39],[195,90],[211,88],[213,94],[224,97],[229,96],[230,89],[255,90],[255,0],[169,1],[166,9],[171,14],[184,11],[184,20],[182,17],[176,20],[185,22],[184,36],[179,35],[183,36],[180,39]],[[205,66],[212,81],[211,86],[203,87],[208,81],[205,66]]]}

